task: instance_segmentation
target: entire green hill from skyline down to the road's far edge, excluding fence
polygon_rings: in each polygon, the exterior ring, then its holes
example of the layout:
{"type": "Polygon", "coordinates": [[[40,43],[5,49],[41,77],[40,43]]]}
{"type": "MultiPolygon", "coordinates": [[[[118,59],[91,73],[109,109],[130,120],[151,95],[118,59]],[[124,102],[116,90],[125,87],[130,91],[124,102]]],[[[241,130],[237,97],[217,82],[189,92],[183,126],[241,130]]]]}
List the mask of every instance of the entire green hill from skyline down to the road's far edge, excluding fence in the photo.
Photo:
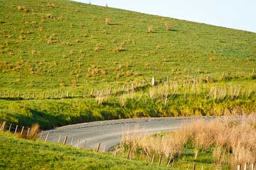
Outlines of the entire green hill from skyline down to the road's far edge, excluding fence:
{"type": "Polygon", "coordinates": [[[3,120],[27,127],[38,122],[47,129],[116,118],[256,111],[255,33],[66,0],[0,0],[0,8],[3,120]],[[152,76],[169,76],[171,83],[96,99],[3,99],[10,91],[81,94],[152,76]]]}

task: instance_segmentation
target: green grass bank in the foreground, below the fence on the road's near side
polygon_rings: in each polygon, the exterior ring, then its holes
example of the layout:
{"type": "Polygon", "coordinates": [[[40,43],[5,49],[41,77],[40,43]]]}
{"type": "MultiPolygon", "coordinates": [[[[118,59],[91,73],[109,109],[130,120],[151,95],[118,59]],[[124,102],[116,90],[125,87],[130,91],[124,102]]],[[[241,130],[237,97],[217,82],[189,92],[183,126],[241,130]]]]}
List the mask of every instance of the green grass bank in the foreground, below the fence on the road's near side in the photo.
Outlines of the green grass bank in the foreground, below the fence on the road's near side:
{"type": "Polygon", "coordinates": [[[15,138],[0,132],[0,169],[164,169],[70,146],[15,138]]]}

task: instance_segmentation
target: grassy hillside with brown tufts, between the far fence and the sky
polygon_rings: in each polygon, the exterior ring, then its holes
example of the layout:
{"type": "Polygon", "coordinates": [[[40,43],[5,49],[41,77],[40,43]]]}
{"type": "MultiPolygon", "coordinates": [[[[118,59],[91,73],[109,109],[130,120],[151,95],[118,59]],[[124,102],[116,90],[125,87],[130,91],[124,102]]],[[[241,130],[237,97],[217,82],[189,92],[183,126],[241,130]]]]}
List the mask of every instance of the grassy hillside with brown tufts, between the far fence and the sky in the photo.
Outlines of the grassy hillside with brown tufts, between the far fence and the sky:
{"type": "Polygon", "coordinates": [[[67,89],[72,80],[87,88],[256,66],[252,32],[64,0],[0,6],[1,90],[67,89]],[[112,25],[104,24],[106,17],[112,25]],[[165,23],[173,30],[165,31],[165,23]],[[147,33],[149,24],[153,33],[147,33]],[[115,52],[118,46],[125,51],[115,52]]]}

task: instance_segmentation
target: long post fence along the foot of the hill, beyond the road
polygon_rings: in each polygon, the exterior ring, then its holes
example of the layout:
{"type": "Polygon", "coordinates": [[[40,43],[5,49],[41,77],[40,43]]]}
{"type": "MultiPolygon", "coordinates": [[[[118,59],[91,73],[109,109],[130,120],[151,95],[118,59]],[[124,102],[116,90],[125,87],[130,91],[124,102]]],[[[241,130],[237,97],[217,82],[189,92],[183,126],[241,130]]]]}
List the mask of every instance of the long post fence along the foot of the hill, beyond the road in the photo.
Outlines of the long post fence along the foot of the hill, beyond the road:
{"type": "MultiPolygon", "coordinates": [[[[214,82],[217,80],[228,80],[232,78],[256,78],[255,71],[253,69],[252,73],[225,73],[223,72],[222,76],[210,76],[207,74],[207,77],[202,76],[186,76],[184,79],[180,81],[202,81],[203,83],[207,82],[214,82]],[[234,74],[234,75],[232,75],[234,74]]],[[[147,86],[147,85],[159,85],[164,82],[169,82],[169,76],[166,78],[159,78],[159,81],[156,81],[156,78],[153,77],[152,79],[144,79],[140,81],[132,81],[132,83],[127,83],[124,85],[118,85],[113,87],[102,87],[102,88],[92,88],[92,89],[82,89],[79,92],[76,91],[52,91],[52,92],[20,92],[20,91],[0,91],[0,99],[67,99],[67,98],[74,98],[74,97],[81,97],[81,98],[97,98],[97,97],[106,97],[106,96],[118,96],[122,94],[129,94],[138,91],[139,89],[147,86]]]]}

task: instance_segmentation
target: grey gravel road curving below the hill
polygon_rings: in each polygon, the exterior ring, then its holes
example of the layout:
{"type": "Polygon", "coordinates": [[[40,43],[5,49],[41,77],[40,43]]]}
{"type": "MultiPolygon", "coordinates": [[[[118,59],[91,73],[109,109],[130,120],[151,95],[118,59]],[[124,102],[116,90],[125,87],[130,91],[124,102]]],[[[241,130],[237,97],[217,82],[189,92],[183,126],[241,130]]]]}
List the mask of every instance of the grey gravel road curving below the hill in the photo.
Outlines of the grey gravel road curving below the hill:
{"type": "MultiPolygon", "coordinates": [[[[77,146],[78,139],[79,147],[83,148],[86,141],[85,148],[96,148],[101,143],[100,150],[102,151],[106,145],[106,151],[109,151],[113,146],[120,143],[123,131],[127,129],[138,129],[138,131],[145,131],[148,134],[161,131],[170,131],[179,128],[184,122],[189,122],[196,117],[179,117],[179,118],[137,118],[125,120],[108,120],[100,122],[90,122],[84,124],[67,125],[52,129],[49,132],[48,141],[63,143],[67,135],[67,145],[77,146]],[[125,129],[125,130],[123,130],[125,129]]],[[[200,117],[211,120],[215,117],[200,117]]],[[[44,132],[42,139],[45,139],[46,133],[44,132]]]]}

